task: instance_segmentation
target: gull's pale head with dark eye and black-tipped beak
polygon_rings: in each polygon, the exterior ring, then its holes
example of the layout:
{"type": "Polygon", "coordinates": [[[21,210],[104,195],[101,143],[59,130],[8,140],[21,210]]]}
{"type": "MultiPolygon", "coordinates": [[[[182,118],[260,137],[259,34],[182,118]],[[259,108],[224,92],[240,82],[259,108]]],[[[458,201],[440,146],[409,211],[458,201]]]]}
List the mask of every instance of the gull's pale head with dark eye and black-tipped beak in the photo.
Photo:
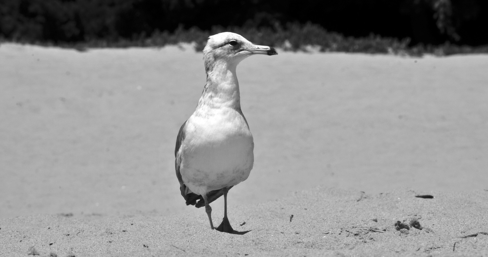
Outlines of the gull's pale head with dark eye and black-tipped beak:
{"type": "Polygon", "coordinates": [[[207,72],[211,70],[215,62],[237,66],[246,57],[255,54],[275,55],[278,52],[270,46],[253,44],[236,33],[219,33],[208,37],[203,49],[205,70],[207,72]]]}

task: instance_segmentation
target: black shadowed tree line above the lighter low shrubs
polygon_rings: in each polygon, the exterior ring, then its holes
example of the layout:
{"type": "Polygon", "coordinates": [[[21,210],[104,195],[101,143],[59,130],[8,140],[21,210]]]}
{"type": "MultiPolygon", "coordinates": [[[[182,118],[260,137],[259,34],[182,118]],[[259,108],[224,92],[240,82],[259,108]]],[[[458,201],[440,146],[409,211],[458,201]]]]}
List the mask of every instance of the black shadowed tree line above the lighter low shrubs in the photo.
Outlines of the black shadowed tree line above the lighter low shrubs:
{"type": "Polygon", "coordinates": [[[487,0],[1,0],[0,37],[116,42],[213,27],[283,32],[312,23],[345,37],[410,45],[488,44],[487,0]]]}

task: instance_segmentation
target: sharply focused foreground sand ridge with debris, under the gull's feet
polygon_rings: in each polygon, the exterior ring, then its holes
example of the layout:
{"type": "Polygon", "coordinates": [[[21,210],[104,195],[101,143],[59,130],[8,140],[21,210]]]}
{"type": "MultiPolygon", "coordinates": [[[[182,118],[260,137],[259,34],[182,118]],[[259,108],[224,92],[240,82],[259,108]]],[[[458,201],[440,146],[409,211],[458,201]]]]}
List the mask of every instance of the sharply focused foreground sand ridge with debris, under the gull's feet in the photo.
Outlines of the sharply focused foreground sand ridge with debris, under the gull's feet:
{"type": "Polygon", "coordinates": [[[230,210],[234,228],[250,230],[245,235],[210,230],[204,212],[96,221],[21,216],[1,220],[0,250],[25,256],[35,245],[41,256],[79,257],[488,256],[488,192],[429,193],[434,198],[411,190],[297,192],[230,210]]]}

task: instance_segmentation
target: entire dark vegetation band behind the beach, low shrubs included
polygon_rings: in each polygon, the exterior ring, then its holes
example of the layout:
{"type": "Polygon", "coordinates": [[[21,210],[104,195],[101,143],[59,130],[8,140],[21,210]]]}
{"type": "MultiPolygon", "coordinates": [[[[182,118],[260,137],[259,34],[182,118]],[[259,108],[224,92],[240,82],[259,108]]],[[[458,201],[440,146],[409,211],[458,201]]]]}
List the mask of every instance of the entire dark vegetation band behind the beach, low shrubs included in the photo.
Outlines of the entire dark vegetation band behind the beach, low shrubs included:
{"type": "Polygon", "coordinates": [[[287,50],[488,52],[487,0],[0,0],[0,40],[163,46],[233,31],[287,50]]]}

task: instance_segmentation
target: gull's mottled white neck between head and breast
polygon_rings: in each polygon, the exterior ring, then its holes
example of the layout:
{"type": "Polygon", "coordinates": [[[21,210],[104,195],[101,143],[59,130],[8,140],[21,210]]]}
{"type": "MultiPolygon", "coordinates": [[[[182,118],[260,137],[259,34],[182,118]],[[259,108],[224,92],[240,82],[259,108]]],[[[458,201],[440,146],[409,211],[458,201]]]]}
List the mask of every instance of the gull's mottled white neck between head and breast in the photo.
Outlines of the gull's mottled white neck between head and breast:
{"type": "Polygon", "coordinates": [[[197,108],[203,105],[215,108],[241,108],[236,66],[237,64],[217,63],[207,71],[207,83],[197,108]]]}

